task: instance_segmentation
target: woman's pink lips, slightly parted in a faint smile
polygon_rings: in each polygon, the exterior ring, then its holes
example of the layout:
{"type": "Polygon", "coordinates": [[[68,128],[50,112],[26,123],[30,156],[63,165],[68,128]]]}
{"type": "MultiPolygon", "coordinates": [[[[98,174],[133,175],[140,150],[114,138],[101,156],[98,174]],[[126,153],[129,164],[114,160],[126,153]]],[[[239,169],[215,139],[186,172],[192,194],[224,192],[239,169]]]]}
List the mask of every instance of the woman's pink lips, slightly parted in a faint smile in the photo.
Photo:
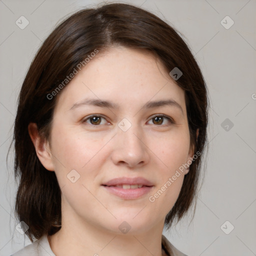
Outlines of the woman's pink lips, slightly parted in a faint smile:
{"type": "Polygon", "coordinates": [[[122,199],[137,199],[149,193],[154,185],[142,177],[121,177],[111,179],[101,186],[110,194],[122,199]]]}

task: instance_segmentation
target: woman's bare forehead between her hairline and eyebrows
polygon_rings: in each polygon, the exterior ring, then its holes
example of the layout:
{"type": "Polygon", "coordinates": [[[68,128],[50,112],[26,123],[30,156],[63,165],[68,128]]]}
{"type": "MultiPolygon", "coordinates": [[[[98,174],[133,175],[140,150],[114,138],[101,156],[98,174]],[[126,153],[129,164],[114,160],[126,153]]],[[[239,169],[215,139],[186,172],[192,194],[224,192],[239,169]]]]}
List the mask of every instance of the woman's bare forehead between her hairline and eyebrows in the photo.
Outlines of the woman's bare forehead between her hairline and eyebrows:
{"type": "Polygon", "coordinates": [[[61,91],[57,106],[70,108],[83,98],[107,99],[124,108],[172,98],[185,107],[183,89],[159,59],[149,51],[122,46],[91,58],[61,91]]]}

